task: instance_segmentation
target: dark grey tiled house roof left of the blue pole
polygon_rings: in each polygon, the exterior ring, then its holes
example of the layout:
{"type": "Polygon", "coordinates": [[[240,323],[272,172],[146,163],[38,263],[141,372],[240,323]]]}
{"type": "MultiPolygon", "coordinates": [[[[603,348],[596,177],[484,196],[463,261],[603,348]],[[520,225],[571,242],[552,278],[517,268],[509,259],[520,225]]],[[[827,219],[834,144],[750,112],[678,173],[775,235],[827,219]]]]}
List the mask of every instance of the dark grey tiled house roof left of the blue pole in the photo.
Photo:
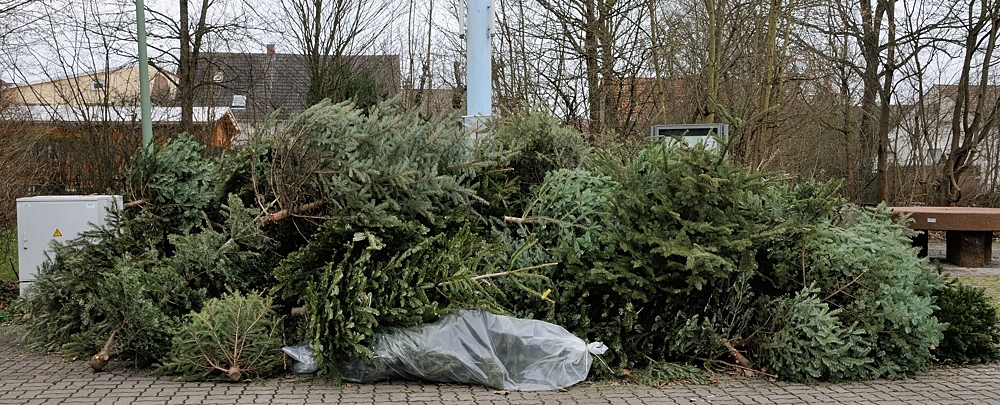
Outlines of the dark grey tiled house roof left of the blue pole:
{"type": "MultiPolygon", "coordinates": [[[[350,56],[352,66],[372,72],[380,93],[399,92],[398,55],[350,56]]],[[[196,105],[231,106],[241,122],[259,121],[277,109],[278,118],[306,109],[309,73],[302,55],[288,53],[208,53],[199,67],[196,105]],[[242,96],[242,97],[241,97],[242,96]],[[234,101],[245,102],[239,108],[234,101]]]]}

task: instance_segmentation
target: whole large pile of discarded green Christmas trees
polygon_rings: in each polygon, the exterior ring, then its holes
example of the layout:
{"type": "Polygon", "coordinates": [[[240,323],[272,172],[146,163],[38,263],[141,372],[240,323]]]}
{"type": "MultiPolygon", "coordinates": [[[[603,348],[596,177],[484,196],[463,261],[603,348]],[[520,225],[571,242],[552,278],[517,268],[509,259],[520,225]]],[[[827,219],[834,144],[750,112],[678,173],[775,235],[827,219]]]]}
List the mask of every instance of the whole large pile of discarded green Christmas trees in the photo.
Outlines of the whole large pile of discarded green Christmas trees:
{"type": "Polygon", "coordinates": [[[474,136],[391,104],[322,102],[255,134],[214,157],[189,136],[140,151],[129,203],[39,269],[29,341],[234,381],[305,343],[338,375],[387,331],[480,310],[604,342],[593,378],[866,379],[998,355],[981,291],[944,283],[884,207],[725,151],[596,149],[532,112],[474,136]]]}

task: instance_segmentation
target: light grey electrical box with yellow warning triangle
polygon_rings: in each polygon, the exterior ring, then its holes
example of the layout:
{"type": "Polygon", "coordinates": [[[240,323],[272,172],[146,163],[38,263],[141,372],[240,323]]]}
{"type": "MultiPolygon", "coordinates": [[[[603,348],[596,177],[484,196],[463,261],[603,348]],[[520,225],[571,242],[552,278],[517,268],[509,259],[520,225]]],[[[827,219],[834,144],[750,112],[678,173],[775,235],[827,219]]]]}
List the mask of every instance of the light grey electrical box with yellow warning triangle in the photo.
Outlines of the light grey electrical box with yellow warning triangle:
{"type": "Polygon", "coordinates": [[[108,209],[120,209],[119,195],[57,195],[17,199],[17,261],[21,295],[35,281],[38,267],[52,254],[49,244],[66,242],[102,226],[108,209]],[[92,225],[93,224],[93,225],[92,225]]]}

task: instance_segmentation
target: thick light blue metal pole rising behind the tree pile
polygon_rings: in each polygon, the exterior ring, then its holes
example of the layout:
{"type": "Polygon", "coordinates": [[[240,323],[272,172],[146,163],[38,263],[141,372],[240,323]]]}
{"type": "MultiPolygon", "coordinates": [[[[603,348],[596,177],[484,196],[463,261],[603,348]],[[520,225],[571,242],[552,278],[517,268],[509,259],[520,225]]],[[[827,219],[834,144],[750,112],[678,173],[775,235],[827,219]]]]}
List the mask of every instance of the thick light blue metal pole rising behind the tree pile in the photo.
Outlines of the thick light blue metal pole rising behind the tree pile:
{"type": "Polygon", "coordinates": [[[490,43],[493,8],[490,3],[490,0],[468,0],[466,7],[467,125],[470,120],[482,123],[493,114],[493,50],[490,43]]]}

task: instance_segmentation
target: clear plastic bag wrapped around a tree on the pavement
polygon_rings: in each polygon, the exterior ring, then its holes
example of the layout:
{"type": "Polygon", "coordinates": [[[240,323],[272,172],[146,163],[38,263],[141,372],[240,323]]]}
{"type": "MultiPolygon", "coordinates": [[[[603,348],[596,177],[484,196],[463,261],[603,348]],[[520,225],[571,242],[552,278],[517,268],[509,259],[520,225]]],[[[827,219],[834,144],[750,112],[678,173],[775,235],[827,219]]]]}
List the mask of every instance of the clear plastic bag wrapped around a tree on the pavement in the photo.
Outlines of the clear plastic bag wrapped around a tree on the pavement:
{"type": "Polygon", "coordinates": [[[375,340],[372,362],[349,360],[340,371],[360,383],[407,379],[545,391],[586,379],[591,355],[606,349],[548,322],[460,311],[386,330],[375,340]]]}

